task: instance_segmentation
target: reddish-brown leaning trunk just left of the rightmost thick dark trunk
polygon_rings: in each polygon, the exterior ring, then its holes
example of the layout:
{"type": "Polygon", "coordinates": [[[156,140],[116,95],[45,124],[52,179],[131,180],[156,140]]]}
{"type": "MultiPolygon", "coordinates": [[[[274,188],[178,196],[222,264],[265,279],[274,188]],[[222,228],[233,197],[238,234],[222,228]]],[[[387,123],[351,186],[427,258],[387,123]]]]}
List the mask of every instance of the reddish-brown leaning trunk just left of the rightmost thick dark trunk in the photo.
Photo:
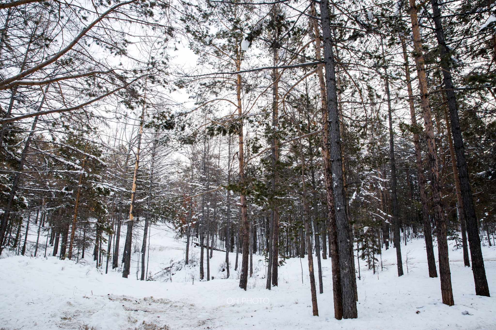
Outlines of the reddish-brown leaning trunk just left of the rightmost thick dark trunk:
{"type": "Polygon", "coordinates": [[[448,306],[454,304],[453,291],[451,287],[451,274],[449,270],[448,241],[446,237],[446,221],[441,205],[441,187],[439,183],[439,172],[437,165],[437,154],[434,138],[434,128],[431,115],[431,104],[427,79],[424,66],[424,56],[421,44],[420,30],[417,18],[417,7],[415,0],[410,0],[410,18],[412,21],[413,43],[415,48],[415,62],[419,78],[420,99],[424,114],[424,127],[426,130],[427,149],[429,155],[429,166],[431,171],[431,187],[434,202],[434,220],[437,230],[437,250],[439,258],[439,275],[441,278],[442,302],[448,306]]]}

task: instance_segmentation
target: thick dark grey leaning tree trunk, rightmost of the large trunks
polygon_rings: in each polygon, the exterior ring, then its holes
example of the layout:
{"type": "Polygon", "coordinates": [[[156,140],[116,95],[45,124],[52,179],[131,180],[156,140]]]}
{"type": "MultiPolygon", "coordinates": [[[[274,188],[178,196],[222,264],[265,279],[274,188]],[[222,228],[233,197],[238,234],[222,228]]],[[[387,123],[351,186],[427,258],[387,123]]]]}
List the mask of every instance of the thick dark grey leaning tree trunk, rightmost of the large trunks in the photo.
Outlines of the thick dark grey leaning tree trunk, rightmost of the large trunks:
{"type": "Polygon", "coordinates": [[[489,285],[486,279],[486,269],[481,250],[481,239],[477,226],[477,217],[472,200],[472,189],[468,176],[467,161],[465,159],[465,148],[458,119],[458,108],[456,105],[453,82],[451,79],[449,49],[444,41],[444,32],[441,25],[441,17],[437,0],[431,0],[433,6],[433,19],[435,25],[435,35],[439,45],[440,64],[442,68],[444,88],[448,99],[449,116],[451,120],[451,133],[453,134],[453,144],[455,148],[458,177],[460,180],[460,192],[462,195],[463,212],[467,225],[468,241],[470,244],[470,255],[472,259],[472,272],[474,274],[475,293],[482,296],[489,295],[489,285]]]}

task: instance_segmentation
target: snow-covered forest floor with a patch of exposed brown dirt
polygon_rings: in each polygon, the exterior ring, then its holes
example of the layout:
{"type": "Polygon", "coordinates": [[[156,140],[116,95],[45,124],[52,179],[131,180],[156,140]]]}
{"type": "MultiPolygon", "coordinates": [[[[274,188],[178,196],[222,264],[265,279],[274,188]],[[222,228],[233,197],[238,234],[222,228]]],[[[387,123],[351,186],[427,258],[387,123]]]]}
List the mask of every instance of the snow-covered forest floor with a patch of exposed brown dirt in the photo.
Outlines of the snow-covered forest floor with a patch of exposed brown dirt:
{"type": "MultiPolygon", "coordinates": [[[[358,319],[337,321],[330,259],[322,260],[324,293],[317,294],[320,316],[313,317],[307,258],[286,260],[279,286],[269,291],[265,261],[253,255],[253,276],[243,291],[232,266],[231,278],[225,279],[225,252],[214,251],[210,259],[214,280],[198,281],[199,248],[190,249],[195,262],[185,267],[185,243],[172,236],[165,227],[152,228],[148,270],[155,281],[136,280],[137,262],[129,279],[113,271],[102,274],[92,255],[79,263],[56,257],[0,259],[0,329],[496,329],[496,298],[475,295],[472,271],[463,266],[462,250],[453,242],[454,306],[441,303],[439,278],[427,275],[424,241],[414,239],[401,246],[402,277],[393,248],[383,251],[382,270],[379,260],[375,274],[360,260],[358,319]]],[[[496,296],[496,249],[483,246],[483,253],[496,296]]],[[[133,260],[138,256],[133,254],[133,260]]],[[[231,253],[231,265],[235,258],[231,253]]]]}

